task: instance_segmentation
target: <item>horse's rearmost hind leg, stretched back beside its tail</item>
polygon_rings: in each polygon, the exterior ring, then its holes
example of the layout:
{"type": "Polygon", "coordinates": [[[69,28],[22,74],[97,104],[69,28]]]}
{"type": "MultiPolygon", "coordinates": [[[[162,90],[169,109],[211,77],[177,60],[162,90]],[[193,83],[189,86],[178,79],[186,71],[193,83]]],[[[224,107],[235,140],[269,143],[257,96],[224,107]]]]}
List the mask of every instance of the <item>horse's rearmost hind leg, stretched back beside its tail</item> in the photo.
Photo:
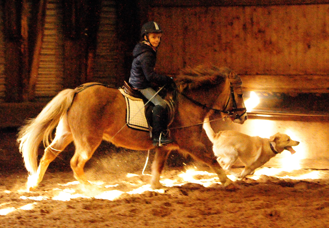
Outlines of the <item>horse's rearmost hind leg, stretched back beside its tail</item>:
{"type": "Polygon", "coordinates": [[[62,118],[56,128],[56,136],[47,148],[42,156],[38,170],[36,173],[29,176],[27,180],[28,190],[32,190],[42,181],[46,170],[50,164],[65,147],[72,142],[72,134],[67,126],[66,118],[62,118]]]}

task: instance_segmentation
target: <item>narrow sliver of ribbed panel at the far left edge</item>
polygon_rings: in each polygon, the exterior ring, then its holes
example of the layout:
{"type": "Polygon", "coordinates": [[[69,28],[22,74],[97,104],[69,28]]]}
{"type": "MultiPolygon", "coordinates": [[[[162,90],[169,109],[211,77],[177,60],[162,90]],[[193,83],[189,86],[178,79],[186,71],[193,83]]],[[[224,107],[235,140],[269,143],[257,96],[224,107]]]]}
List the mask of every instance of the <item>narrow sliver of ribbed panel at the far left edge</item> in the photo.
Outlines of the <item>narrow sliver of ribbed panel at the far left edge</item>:
{"type": "Polygon", "coordinates": [[[5,99],[5,41],[4,41],[3,8],[0,5],[0,102],[5,99]]]}

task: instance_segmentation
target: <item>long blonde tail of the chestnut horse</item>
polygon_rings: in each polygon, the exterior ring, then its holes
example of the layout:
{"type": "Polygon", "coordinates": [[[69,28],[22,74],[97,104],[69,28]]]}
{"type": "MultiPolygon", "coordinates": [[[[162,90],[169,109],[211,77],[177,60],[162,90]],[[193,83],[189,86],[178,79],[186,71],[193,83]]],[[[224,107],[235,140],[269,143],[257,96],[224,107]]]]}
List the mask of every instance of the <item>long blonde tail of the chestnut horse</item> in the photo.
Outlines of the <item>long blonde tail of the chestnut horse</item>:
{"type": "Polygon", "coordinates": [[[59,92],[35,119],[28,120],[26,125],[21,127],[17,142],[30,175],[35,174],[38,169],[38,147],[41,141],[45,147],[50,144],[52,131],[71,106],[75,93],[74,89],[59,92]]]}

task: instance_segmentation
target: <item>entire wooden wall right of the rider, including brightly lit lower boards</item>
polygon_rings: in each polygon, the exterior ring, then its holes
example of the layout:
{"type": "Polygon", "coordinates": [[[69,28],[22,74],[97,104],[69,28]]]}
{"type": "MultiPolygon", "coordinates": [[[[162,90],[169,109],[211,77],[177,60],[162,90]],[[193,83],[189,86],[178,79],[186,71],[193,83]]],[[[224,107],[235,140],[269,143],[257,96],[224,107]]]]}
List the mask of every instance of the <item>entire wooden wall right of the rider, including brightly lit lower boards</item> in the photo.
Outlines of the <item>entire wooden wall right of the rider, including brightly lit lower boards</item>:
{"type": "Polygon", "coordinates": [[[257,91],[261,104],[243,125],[218,121],[214,130],[289,134],[301,142],[298,152],[266,165],[327,168],[328,13],[326,1],[156,1],[149,19],[165,31],[157,69],[230,67],[241,75],[244,93],[257,91]]]}

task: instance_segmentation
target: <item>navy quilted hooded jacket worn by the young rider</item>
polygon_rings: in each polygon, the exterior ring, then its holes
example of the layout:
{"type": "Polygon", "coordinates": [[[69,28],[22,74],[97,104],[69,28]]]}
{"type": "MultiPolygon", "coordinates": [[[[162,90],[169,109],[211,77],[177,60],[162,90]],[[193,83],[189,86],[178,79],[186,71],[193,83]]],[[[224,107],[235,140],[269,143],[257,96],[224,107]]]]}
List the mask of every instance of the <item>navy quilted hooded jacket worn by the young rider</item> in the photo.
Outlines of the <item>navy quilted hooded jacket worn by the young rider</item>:
{"type": "Polygon", "coordinates": [[[138,43],[133,50],[134,61],[130,71],[129,83],[137,89],[163,86],[170,82],[166,75],[154,72],[156,52],[144,43],[138,43]]]}

